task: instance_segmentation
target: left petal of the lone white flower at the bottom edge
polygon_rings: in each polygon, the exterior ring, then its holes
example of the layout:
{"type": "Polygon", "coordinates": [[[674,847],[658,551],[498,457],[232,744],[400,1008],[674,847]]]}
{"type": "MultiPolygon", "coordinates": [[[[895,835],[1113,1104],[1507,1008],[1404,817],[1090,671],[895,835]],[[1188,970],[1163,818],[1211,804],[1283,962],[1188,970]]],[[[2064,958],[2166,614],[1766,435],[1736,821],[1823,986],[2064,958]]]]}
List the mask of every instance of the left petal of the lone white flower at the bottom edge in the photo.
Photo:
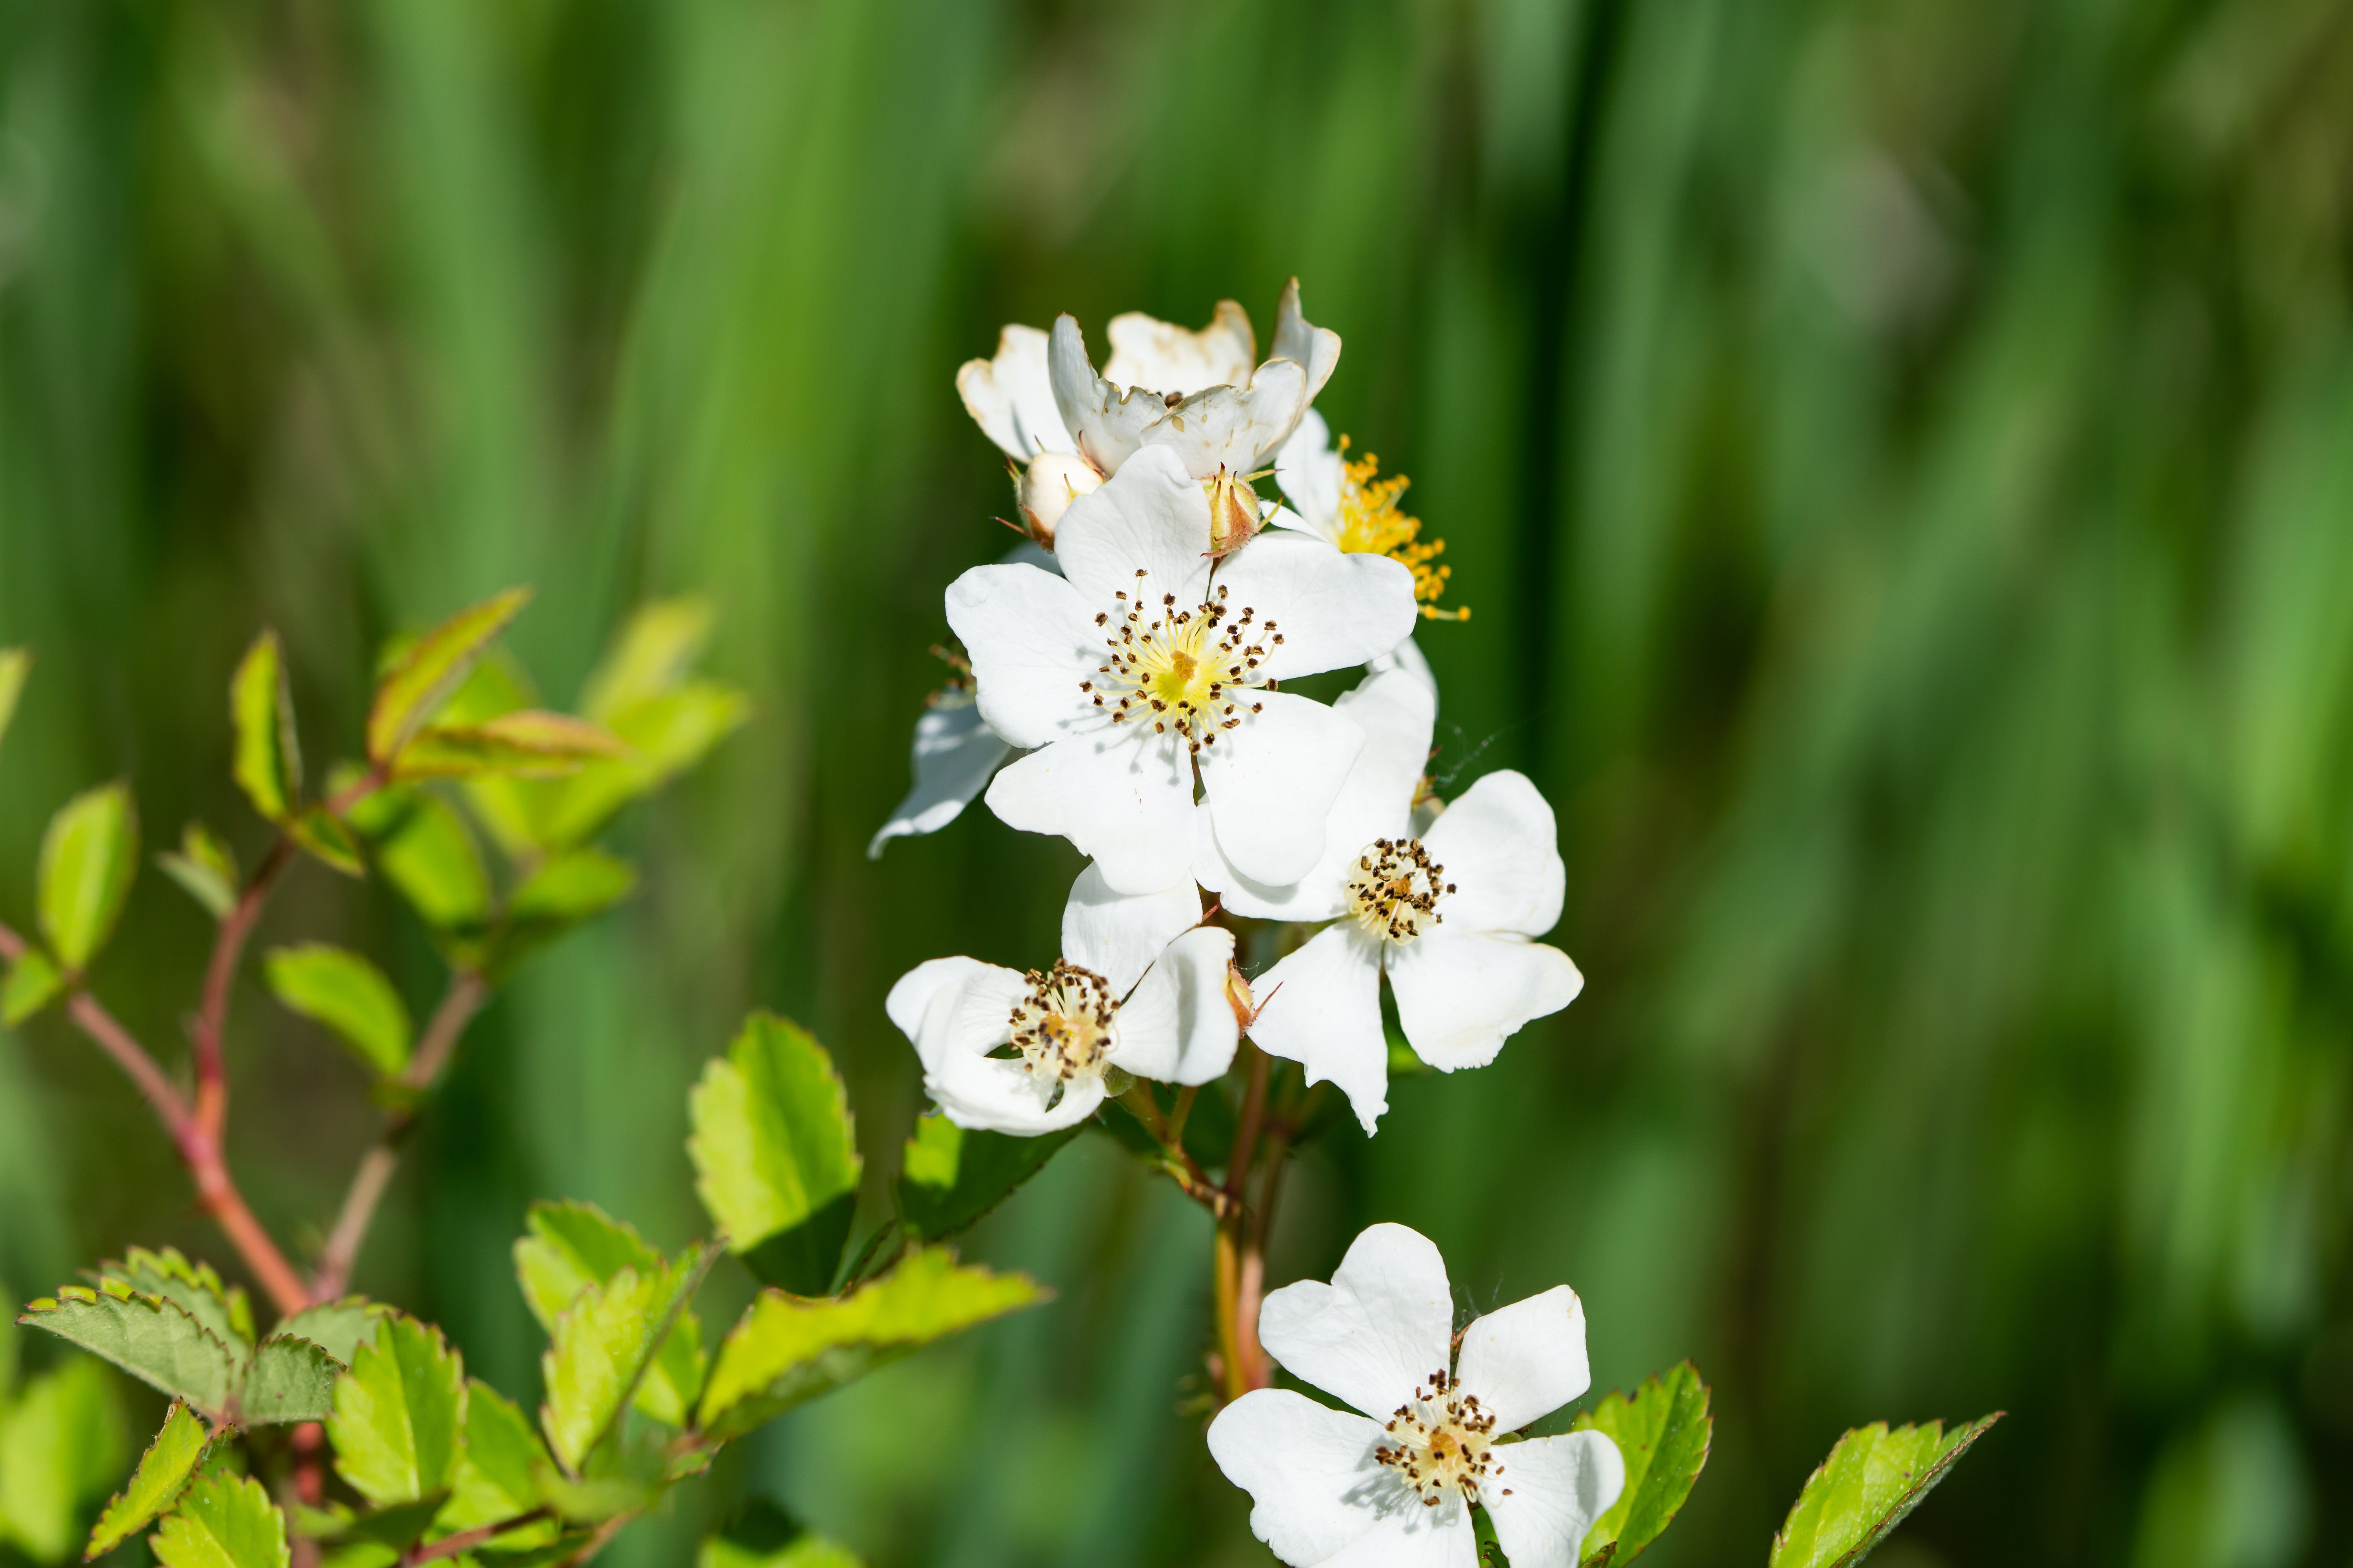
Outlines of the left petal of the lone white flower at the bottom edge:
{"type": "Polygon", "coordinates": [[[1294,1568],[1329,1561],[1367,1535],[1381,1505],[1421,1497],[1372,1458],[1379,1422],[1292,1389],[1254,1389],[1209,1422],[1209,1458],[1249,1493],[1249,1533],[1294,1568]]]}

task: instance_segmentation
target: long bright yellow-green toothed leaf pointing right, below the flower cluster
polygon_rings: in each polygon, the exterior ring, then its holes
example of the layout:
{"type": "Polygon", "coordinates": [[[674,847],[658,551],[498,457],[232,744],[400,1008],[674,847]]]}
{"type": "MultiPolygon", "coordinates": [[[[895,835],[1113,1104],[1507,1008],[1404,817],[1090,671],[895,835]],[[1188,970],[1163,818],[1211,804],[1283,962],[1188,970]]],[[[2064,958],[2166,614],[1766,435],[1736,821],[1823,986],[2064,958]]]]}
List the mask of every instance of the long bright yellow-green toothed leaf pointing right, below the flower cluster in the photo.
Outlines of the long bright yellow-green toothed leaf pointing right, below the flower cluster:
{"type": "Polygon", "coordinates": [[[701,1427],[732,1439],[951,1333],[1035,1307],[1047,1288],[1021,1274],[958,1265],[922,1248],[842,1300],[762,1291],[720,1345],[701,1427]]]}

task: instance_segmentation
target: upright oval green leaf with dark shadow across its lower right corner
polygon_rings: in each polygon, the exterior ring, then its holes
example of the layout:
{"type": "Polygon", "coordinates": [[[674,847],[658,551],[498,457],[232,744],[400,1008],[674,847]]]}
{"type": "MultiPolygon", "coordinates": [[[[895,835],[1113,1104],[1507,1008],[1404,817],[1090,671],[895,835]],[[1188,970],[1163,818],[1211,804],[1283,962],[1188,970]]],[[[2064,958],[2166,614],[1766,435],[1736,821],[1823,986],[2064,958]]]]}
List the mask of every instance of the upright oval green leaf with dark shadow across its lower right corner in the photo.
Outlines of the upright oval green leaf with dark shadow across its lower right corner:
{"type": "Polygon", "coordinates": [[[826,1048],[800,1025],[753,1013],[689,1107],[694,1190],[727,1248],[795,1295],[828,1291],[856,1208],[859,1152],[826,1048]]]}

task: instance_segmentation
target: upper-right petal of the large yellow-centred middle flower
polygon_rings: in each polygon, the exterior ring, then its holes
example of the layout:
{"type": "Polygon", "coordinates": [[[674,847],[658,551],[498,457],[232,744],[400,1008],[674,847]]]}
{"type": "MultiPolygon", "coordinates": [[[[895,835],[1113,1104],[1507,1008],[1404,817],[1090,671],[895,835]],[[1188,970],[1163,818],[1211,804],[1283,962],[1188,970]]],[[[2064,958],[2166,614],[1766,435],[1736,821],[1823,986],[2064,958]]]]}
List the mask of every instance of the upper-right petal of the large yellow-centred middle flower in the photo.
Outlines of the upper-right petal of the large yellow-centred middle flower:
{"type": "MultiPolygon", "coordinates": [[[[1292,679],[1388,654],[1414,635],[1414,574],[1386,555],[1341,552],[1297,529],[1268,529],[1217,567],[1228,607],[1282,632],[1259,675],[1292,679]]],[[[1259,637],[1257,642],[1266,642],[1259,637]]]]}

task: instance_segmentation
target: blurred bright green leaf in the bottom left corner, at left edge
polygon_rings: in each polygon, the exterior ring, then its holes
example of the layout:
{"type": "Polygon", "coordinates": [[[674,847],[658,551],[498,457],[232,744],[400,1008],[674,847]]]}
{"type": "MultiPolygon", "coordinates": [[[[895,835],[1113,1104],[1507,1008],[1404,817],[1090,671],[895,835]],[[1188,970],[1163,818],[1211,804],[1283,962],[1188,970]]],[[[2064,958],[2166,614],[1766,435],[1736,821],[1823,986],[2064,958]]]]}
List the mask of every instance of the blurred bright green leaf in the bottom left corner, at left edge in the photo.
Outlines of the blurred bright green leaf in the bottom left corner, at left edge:
{"type": "Polygon", "coordinates": [[[66,1561],[122,1448],[122,1410],[96,1361],[75,1356],[28,1382],[0,1413],[0,1537],[38,1563],[66,1561]]]}

